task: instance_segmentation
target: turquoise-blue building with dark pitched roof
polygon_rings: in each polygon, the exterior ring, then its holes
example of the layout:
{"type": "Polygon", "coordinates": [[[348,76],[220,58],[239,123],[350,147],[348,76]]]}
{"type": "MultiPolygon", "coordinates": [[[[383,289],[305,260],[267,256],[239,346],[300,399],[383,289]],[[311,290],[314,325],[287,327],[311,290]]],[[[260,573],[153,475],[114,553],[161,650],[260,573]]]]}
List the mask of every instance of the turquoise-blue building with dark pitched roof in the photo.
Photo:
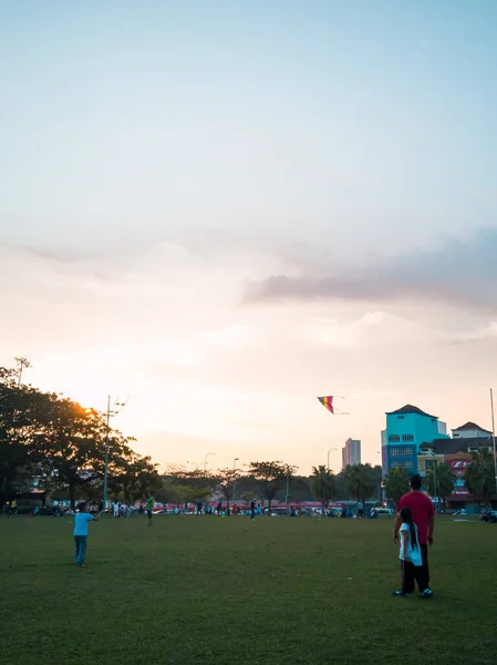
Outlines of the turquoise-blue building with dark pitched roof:
{"type": "Polygon", "coordinates": [[[417,473],[421,444],[435,439],[448,439],[446,431],[445,422],[412,405],[386,413],[386,429],[382,431],[383,475],[394,467],[404,467],[410,473],[417,473]]]}

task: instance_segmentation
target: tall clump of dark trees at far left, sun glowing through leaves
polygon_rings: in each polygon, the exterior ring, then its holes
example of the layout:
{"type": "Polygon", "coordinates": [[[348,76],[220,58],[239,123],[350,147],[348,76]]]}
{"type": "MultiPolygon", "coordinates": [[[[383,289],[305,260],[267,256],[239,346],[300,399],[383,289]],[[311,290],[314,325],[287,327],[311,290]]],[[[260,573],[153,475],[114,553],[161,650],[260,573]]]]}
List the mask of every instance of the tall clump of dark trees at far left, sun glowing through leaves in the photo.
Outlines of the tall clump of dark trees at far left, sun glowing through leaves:
{"type": "MultiPolygon", "coordinates": [[[[93,500],[104,475],[105,415],[23,385],[21,372],[30,365],[17,362],[14,369],[0,367],[0,504],[33,479],[46,491],[68,491],[72,507],[76,491],[93,500]]],[[[156,466],[133,451],[133,441],[110,430],[108,487],[130,502],[158,482],[156,466]]]]}

